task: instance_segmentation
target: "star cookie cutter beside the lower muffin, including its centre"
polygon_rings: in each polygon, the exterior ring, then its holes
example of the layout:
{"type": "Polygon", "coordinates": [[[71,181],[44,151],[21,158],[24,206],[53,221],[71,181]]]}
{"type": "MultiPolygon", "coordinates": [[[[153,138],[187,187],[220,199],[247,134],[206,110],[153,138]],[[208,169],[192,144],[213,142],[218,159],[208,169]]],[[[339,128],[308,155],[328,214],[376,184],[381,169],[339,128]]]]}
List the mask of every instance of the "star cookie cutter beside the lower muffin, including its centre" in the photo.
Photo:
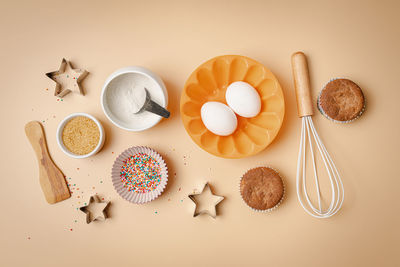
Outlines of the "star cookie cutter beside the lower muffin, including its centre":
{"type": "Polygon", "coordinates": [[[200,193],[193,193],[188,197],[195,204],[193,217],[200,214],[207,214],[214,219],[217,217],[217,205],[224,200],[223,196],[214,195],[209,183],[204,185],[200,193]]]}

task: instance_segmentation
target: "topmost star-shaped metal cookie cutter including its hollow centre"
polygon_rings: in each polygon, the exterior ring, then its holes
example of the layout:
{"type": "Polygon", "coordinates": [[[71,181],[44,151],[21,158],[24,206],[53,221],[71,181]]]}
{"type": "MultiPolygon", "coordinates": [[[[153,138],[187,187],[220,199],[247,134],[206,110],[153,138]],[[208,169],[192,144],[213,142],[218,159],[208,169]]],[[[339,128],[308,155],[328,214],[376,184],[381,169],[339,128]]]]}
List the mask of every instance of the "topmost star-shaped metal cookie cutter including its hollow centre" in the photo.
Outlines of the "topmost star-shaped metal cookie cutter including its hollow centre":
{"type": "Polygon", "coordinates": [[[89,72],[84,69],[74,69],[71,62],[63,58],[60,68],[57,71],[46,73],[46,76],[56,83],[54,95],[63,98],[76,88],[81,95],[85,95],[81,82],[88,74],[89,72]]]}

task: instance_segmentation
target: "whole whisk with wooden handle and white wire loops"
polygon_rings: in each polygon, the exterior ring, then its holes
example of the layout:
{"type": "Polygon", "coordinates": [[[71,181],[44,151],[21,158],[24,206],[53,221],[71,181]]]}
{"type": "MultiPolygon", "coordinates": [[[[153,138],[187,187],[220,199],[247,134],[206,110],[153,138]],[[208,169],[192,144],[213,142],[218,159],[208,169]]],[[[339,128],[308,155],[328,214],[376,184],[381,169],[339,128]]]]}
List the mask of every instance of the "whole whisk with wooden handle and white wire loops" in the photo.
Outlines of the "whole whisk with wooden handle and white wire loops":
{"type": "Polygon", "coordinates": [[[342,207],[344,200],[344,188],[335,163],[325,148],[325,145],[322,143],[322,140],[319,137],[311,119],[314,111],[311,101],[310,77],[308,74],[307,58],[302,52],[296,52],[292,55],[292,70],[297,98],[297,113],[299,117],[302,118],[296,175],[297,198],[299,199],[300,205],[303,207],[303,209],[311,216],[316,218],[329,218],[335,215],[342,207]],[[306,153],[307,144],[309,145],[309,151],[306,153]],[[331,201],[329,203],[329,207],[326,209],[322,207],[321,200],[327,200],[328,198],[321,196],[321,183],[318,176],[322,172],[317,170],[314,149],[319,151],[321,159],[326,168],[327,176],[329,177],[331,201]],[[318,206],[311,201],[312,198],[310,199],[309,192],[307,190],[307,155],[311,155],[313,166],[312,170],[314,174],[314,179],[312,180],[315,184],[318,206]]]}

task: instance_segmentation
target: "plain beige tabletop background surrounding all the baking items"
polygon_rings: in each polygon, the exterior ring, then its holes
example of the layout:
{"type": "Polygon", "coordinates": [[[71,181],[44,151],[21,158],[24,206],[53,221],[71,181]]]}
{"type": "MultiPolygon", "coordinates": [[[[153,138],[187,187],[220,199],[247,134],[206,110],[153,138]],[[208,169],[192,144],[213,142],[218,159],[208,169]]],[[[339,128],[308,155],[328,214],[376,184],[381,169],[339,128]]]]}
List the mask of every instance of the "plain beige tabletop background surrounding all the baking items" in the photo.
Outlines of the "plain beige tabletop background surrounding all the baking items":
{"type": "Polygon", "coordinates": [[[399,266],[399,11],[398,1],[1,1],[0,265],[399,266]],[[307,215],[295,195],[300,120],[290,55],[297,50],[309,56],[314,96],[344,76],[368,101],[351,125],[314,116],[346,188],[343,209],[328,220],[307,215]],[[186,78],[223,54],[260,61],[284,90],[281,132],[247,159],[202,151],[179,117],[186,78]],[[56,101],[44,74],[62,57],[91,73],[86,96],[56,101]],[[114,127],[100,107],[107,76],[129,65],[158,73],[170,93],[172,117],[142,133],[114,127]],[[58,148],[55,131],[80,111],[101,120],[107,141],[98,155],[76,160],[58,148]],[[73,197],[56,205],[39,187],[23,130],[30,120],[44,121],[50,153],[75,184],[73,197]],[[167,190],[143,206],[121,199],[109,175],[116,155],[133,145],[158,150],[170,168],[167,190]],[[241,174],[262,164],[287,185],[270,214],[251,211],[238,193],[241,174]],[[186,197],[207,180],[226,197],[216,220],[192,218],[186,197]],[[76,210],[92,193],[112,201],[105,223],[86,225],[76,210]]]}

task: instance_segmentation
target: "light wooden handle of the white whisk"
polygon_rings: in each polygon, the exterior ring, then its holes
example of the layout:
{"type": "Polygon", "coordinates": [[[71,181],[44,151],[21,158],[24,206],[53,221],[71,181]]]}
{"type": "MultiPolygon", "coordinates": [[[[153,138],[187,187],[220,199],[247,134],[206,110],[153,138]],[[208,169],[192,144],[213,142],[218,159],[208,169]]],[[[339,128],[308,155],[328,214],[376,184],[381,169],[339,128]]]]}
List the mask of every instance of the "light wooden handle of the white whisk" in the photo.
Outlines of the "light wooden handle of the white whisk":
{"type": "Polygon", "coordinates": [[[311,116],[314,111],[311,99],[310,76],[308,74],[307,58],[303,52],[296,52],[292,55],[292,70],[297,98],[297,113],[299,117],[311,116]]]}

